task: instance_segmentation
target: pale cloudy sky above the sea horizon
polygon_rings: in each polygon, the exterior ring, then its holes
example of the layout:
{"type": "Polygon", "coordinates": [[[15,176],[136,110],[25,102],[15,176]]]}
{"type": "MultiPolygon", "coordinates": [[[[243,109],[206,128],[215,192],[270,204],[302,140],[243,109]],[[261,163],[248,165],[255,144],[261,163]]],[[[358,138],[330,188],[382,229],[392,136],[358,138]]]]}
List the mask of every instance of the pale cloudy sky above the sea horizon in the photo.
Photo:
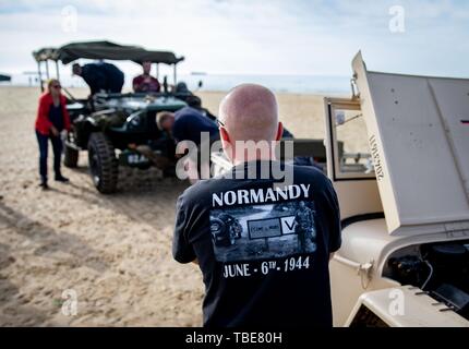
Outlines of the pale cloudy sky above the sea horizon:
{"type": "Polygon", "coordinates": [[[0,71],[108,39],[185,56],[182,72],[349,75],[361,49],[372,70],[469,76],[468,34],[465,0],[0,0],[0,71]]]}

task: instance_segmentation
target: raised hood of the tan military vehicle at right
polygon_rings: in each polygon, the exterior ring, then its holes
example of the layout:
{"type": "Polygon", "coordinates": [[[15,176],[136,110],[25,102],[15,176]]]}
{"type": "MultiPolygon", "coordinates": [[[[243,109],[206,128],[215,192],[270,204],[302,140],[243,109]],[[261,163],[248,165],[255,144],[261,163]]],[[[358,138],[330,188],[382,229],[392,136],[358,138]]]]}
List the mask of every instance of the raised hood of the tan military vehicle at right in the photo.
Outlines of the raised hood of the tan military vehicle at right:
{"type": "Polygon", "coordinates": [[[352,67],[389,233],[469,230],[469,79],[352,67]]]}

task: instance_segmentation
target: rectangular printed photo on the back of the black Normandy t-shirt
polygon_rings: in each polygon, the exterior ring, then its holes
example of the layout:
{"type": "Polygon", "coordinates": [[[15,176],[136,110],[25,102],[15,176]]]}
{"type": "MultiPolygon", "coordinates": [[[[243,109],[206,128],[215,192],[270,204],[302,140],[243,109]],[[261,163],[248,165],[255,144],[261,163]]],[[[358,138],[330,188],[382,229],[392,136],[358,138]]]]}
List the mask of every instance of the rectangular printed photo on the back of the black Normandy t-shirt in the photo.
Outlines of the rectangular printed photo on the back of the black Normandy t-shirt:
{"type": "Polygon", "coordinates": [[[218,262],[281,258],[316,251],[313,201],[212,209],[209,219],[218,262]]]}

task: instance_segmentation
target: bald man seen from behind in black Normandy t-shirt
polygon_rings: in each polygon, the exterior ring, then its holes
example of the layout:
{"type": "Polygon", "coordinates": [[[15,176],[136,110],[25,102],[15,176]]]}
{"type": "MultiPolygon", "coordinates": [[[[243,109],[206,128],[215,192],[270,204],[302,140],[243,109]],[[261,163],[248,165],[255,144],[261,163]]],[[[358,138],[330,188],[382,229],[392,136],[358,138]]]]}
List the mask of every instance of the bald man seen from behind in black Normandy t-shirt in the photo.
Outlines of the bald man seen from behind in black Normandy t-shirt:
{"type": "Polygon", "coordinates": [[[172,245],[178,262],[202,270],[204,326],[330,327],[328,261],[341,243],[330,181],[275,159],[282,127],[263,86],[224,98],[219,132],[233,167],[179,197],[172,245]],[[291,178],[265,171],[276,166],[291,178]]]}

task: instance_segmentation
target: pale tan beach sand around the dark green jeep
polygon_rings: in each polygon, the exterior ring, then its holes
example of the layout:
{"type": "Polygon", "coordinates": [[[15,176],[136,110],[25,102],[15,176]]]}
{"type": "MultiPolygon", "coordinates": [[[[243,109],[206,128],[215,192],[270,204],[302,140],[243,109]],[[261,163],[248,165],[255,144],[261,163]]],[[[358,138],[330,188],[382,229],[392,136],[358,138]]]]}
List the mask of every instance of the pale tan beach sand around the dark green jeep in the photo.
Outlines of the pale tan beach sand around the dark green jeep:
{"type": "MultiPolygon", "coordinates": [[[[84,94],[79,91],[79,94],[84,94]]],[[[217,113],[223,93],[200,93],[217,113]]],[[[69,184],[38,188],[34,120],[38,88],[0,87],[0,326],[200,326],[203,282],[172,260],[175,206],[187,183],[123,169],[101,195],[79,168],[69,184]],[[62,292],[76,292],[76,315],[62,292]]],[[[320,96],[279,94],[281,121],[298,137],[323,139],[320,96]]],[[[49,148],[49,177],[52,154],[49,148]]]]}

